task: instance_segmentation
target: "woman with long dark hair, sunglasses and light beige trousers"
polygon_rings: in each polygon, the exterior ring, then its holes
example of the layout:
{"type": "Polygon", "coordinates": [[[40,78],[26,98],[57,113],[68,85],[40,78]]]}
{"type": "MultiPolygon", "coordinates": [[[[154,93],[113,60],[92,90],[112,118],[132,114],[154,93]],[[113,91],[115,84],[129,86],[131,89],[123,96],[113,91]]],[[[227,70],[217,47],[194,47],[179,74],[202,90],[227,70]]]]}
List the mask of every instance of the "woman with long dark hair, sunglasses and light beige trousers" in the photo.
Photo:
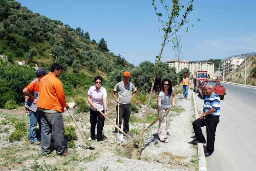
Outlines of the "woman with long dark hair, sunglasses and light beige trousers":
{"type": "Polygon", "coordinates": [[[159,115],[158,138],[161,142],[165,142],[167,139],[167,131],[170,125],[171,111],[164,117],[162,116],[168,108],[175,106],[175,92],[174,88],[172,87],[172,82],[169,79],[164,79],[162,81],[161,91],[157,97],[157,103],[159,115]]]}

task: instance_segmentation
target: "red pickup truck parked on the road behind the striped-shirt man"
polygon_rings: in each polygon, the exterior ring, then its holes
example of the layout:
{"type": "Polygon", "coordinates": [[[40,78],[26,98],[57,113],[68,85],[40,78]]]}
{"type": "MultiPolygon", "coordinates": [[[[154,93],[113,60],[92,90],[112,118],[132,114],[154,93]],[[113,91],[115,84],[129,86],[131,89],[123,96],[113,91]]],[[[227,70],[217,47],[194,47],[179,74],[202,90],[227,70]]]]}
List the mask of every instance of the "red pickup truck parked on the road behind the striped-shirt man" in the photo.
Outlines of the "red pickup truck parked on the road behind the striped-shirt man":
{"type": "Polygon", "coordinates": [[[224,86],[221,86],[220,82],[216,80],[203,81],[199,87],[198,96],[202,96],[204,98],[204,86],[206,84],[212,84],[213,91],[220,96],[220,100],[224,100],[224,96],[226,95],[226,88],[224,86]]]}

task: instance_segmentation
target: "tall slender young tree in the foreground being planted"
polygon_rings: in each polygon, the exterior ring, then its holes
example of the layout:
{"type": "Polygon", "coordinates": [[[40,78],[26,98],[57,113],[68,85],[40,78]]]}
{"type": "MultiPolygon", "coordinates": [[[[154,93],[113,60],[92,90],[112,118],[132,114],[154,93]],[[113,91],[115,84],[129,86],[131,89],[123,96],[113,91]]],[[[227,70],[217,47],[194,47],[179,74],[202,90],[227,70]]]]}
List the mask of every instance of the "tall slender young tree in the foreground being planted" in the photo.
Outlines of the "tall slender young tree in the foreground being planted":
{"type": "MultiPolygon", "coordinates": [[[[161,27],[162,27],[163,42],[161,43],[162,47],[161,47],[160,53],[156,56],[156,64],[154,66],[154,76],[151,79],[152,86],[151,86],[150,93],[148,95],[147,111],[145,112],[146,114],[144,115],[143,127],[142,127],[141,134],[140,134],[140,143],[139,143],[139,149],[138,149],[139,157],[141,155],[141,145],[142,145],[143,134],[144,134],[144,129],[145,129],[146,120],[147,120],[147,113],[148,113],[148,109],[150,108],[150,101],[151,101],[152,91],[153,91],[154,84],[155,84],[155,81],[156,81],[157,71],[159,69],[159,65],[161,64],[161,58],[162,58],[162,54],[163,54],[163,51],[164,51],[164,47],[167,43],[169,43],[172,36],[174,34],[178,33],[180,31],[181,27],[185,23],[188,23],[188,21],[189,21],[188,20],[188,14],[193,10],[193,1],[194,0],[190,0],[188,2],[188,6],[187,6],[185,12],[183,13],[182,17],[180,17],[180,13],[185,8],[185,6],[180,5],[179,0],[172,0],[171,10],[169,10],[168,5],[164,4],[164,0],[160,0],[160,4],[163,7],[162,10],[164,10],[166,15],[167,15],[166,16],[167,20],[164,21],[163,20],[163,14],[161,12],[159,12],[159,10],[158,10],[158,8],[155,4],[155,0],[152,0],[152,5],[154,6],[156,16],[158,17],[158,22],[161,24],[161,27]]],[[[185,30],[185,32],[188,32],[188,27],[185,30]]]]}

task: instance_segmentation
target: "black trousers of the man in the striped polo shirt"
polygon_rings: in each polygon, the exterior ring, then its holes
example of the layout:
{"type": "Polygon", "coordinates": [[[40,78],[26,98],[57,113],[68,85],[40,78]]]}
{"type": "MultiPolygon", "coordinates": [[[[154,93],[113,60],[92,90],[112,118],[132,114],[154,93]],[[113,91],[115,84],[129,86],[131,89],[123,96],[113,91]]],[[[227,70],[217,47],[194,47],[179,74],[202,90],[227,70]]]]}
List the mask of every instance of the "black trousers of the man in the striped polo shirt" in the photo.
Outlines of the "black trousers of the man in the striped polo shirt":
{"type": "Polygon", "coordinates": [[[206,116],[205,120],[202,121],[200,118],[198,118],[192,123],[195,131],[195,135],[201,142],[205,142],[205,138],[204,138],[201,127],[206,126],[206,137],[207,137],[206,150],[210,153],[214,151],[215,132],[219,122],[220,122],[219,117],[206,116]]]}

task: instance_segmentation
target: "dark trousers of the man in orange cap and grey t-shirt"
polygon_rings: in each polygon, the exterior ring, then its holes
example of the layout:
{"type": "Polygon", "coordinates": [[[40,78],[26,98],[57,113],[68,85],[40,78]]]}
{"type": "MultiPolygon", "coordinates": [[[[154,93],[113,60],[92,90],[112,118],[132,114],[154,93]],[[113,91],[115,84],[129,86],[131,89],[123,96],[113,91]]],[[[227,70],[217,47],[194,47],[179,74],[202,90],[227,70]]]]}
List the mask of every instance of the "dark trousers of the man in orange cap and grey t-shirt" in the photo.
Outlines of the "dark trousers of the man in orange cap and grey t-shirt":
{"type": "MultiPolygon", "coordinates": [[[[124,132],[129,132],[129,120],[131,115],[131,105],[125,105],[121,104],[119,106],[119,123],[118,127],[121,128],[122,125],[122,119],[124,118],[124,132]]],[[[116,105],[116,125],[117,125],[117,112],[118,112],[118,105],[116,105]]],[[[115,129],[115,132],[117,133],[117,128],[115,129]]]]}

